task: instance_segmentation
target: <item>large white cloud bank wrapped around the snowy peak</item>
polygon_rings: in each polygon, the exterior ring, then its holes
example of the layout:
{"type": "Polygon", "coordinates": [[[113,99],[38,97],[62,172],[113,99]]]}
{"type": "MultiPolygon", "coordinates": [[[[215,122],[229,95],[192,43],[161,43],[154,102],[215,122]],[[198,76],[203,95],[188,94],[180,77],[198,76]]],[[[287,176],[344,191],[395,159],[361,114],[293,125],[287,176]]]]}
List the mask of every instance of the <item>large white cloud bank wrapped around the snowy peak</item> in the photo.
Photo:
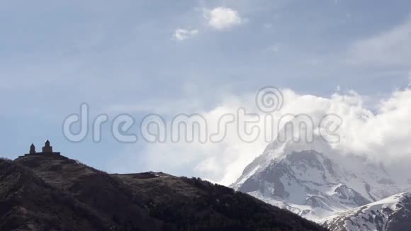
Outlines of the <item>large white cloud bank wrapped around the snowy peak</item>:
{"type": "MultiPolygon", "coordinates": [[[[340,141],[332,144],[334,149],[347,154],[365,154],[373,162],[383,162],[394,174],[402,171],[399,177],[406,180],[403,172],[409,172],[407,167],[411,163],[411,89],[395,91],[373,105],[369,104],[368,96],[354,91],[335,93],[325,98],[283,89],[283,95],[283,108],[272,113],[274,118],[281,118],[287,113],[304,113],[318,121],[325,114],[337,114],[343,123],[337,131],[340,141]]],[[[265,114],[255,106],[254,97],[254,94],[227,95],[215,108],[196,113],[204,116],[211,128],[210,133],[213,133],[222,115],[235,114],[240,107],[263,118],[265,114]]],[[[264,128],[266,123],[263,121],[257,126],[261,131],[269,130],[264,128]]],[[[235,124],[229,124],[222,142],[149,144],[137,161],[144,162],[148,169],[153,170],[175,172],[180,168],[192,169],[193,176],[228,185],[268,144],[264,136],[251,143],[242,142],[235,124]]]]}

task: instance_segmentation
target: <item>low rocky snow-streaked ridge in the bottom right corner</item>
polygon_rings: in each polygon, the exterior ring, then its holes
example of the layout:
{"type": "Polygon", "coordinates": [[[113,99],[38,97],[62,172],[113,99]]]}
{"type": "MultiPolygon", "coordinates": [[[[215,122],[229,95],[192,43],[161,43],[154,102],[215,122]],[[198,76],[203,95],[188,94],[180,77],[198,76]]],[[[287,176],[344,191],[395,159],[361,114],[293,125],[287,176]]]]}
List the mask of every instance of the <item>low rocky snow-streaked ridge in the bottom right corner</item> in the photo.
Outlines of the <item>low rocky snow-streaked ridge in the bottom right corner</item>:
{"type": "Polygon", "coordinates": [[[411,193],[400,193],[317,221],[335,231],[411,230],[411,193]]]}

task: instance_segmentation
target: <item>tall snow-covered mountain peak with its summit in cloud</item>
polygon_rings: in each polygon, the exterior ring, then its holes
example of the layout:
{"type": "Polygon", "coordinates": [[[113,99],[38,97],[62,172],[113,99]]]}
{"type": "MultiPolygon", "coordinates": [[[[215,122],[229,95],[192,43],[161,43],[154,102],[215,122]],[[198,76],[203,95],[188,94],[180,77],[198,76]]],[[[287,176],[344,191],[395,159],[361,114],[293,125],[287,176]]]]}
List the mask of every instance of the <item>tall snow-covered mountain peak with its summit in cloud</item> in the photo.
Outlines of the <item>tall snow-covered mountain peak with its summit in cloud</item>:
{"type": "Polygon", "coordinates": [[[310,220],[401,192],[382,165],[339,153],[322,137],[272,142],[231,186],[310,220]]]}

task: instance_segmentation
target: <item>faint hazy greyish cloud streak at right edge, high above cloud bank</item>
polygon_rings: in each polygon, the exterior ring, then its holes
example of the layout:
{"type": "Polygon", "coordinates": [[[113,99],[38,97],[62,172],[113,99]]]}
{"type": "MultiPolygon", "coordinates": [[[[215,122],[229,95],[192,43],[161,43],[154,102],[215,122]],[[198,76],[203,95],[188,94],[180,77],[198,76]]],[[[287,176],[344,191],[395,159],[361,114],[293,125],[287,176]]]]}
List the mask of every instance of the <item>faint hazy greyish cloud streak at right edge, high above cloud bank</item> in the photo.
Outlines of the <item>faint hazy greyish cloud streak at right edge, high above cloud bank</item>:
{"type": "Polygon", "coordinates": [[[379,35],[359,40],[349,49],[354,64],[406,66],[411,63],[411,18],[379,35]]]}

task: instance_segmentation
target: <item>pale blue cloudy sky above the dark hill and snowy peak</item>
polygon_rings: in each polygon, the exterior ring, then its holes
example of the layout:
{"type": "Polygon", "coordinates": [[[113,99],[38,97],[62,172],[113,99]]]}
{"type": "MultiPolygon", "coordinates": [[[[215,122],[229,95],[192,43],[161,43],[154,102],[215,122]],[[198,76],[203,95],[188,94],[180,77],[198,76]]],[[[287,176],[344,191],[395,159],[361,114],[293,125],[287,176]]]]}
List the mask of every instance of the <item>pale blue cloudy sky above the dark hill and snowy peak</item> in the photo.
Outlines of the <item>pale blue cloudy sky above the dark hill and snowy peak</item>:
{"type": "Polygon", "coordinates": [[[216,123],[256,112],[264,86],[283,91],[283,113],[338,113],[344,150],[390,163],[411,153],[410,1],[0,1],[0,31],[1,157],[49,139],[108,172],[230,184],[266,142],[124,143],[107,124],[100,142],[72,142],[62,124],[82,103],[109,121],[200,113],[216,123]]]}

